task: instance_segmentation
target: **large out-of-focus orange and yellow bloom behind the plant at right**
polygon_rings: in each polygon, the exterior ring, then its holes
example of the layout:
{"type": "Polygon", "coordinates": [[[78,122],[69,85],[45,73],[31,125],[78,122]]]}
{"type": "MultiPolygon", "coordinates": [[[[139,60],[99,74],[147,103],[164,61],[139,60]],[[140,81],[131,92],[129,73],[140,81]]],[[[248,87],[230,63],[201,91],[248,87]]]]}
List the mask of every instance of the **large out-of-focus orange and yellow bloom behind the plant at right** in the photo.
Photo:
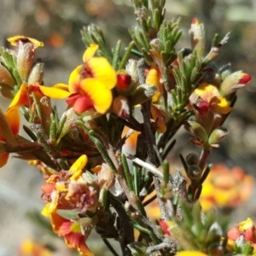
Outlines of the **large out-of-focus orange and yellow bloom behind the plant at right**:
{"type": "Polygon", "coordinates": [[[201,207],[204,211],[213,206],[237,207],[252,194],[253,183],[253,177],[246,175],[240,167],[230,170],[224,165],[213,166],[203,183],[201,207]]]}

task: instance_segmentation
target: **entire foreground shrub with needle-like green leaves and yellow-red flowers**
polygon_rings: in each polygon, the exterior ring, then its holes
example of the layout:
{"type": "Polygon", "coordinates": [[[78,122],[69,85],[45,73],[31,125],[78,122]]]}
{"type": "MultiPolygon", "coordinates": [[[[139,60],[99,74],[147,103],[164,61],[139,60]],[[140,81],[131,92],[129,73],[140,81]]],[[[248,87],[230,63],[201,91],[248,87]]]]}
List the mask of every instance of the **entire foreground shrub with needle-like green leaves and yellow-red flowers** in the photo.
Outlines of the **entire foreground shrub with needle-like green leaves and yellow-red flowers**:
{"type": "MultiPolygon", "coordinates": [[[[223,125],[236,91],[251,77],[214,64],[228,34],[221,40],[215,34],[205,55],[204,25],[194,19],[191,48],[177,49],[183,32],[179,19],[166,20],[165,1],[131,3],[137,26],[129,30],[125,53],[121,40],[110,49],[101,28],[84,27],[83,62],[67,84],[44,84],[44,63],[35,59],[43,43],[9,38],[16,50],[0,50],[0,91],[11,100],[0,111],[0,165],[16,153],[39,167],[46,182],[42,214],[81,255],[93,255],[86,244],[93,229],[114,255],[110,238],[119,241],[123,255],[228,255],[215,213],[202,212],[198,200],[211,172],[208,156],[228,136],[223,125]],[[67,109],[58,113],[50,99],[66,99],[67,109]],[[19,135],[19,111],[30,139],[19,135]],[[201,148],[200,156],[180,154],[187,179],[180,169],[170,174],[166,160],[182,126],[201,148]],[[132,154],[124,145],[134,132],[132,154]],[[161,214],[156,223],[145,210],[155,197],[161,214]]],[[[250,243],[236,247],[253,251],[250,243]]]]}

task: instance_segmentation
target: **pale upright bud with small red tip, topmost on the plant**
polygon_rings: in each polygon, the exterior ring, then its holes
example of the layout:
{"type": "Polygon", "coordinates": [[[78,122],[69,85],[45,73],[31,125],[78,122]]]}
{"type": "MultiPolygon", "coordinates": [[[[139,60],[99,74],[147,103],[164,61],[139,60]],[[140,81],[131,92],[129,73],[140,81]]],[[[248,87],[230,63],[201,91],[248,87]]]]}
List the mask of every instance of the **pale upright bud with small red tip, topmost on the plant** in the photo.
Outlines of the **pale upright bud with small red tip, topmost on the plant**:
{"type": "Polygon", "coordinates": [[[189,29],[190,44],[196,55],[201,58],[204,54],[206,38],[205,27],[197,19],[192,20],[189,29]]]}

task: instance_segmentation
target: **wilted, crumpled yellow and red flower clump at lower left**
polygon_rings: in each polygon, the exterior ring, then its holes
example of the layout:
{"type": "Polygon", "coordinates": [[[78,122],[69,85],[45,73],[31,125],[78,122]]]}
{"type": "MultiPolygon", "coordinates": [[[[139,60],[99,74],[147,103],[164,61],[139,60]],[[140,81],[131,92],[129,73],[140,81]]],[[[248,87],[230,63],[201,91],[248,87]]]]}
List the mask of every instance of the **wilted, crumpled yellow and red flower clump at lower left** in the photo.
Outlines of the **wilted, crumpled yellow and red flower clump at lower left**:
{"type": "MultiPolygon", "coordinates": [[[[69,171],[49,176],[47,183],[41,187],[44,192],[42,198],[46,202],[42,214],[50,219],[53,230],[64,237],[68,247],[76,248],[80,255],[92,256],[93,253],[85,243],[90,231],[84,233],[77,214],[67,218],[63,213],[96,211],[98,189],[87,183],[82,176],[86,163],[87,156],[81,155],[69,171]]],[[[90,230],[92,228],[91,224],[90,230]]]]}

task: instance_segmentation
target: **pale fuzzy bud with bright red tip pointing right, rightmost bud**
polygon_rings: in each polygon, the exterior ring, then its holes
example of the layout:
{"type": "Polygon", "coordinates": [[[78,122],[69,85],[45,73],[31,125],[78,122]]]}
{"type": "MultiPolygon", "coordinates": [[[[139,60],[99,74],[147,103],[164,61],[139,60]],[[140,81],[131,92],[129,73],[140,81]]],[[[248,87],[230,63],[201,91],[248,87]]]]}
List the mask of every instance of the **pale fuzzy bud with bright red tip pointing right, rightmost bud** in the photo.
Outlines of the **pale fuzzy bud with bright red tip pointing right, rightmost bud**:
{"type": "Polygon", "coordinates": [[[229,96],[231,93],[245,86],[251,81],[251,76],[247,73],[237,71],[227,76],[224,81],[220,84],[219,91],[222,96],[229,96]]]}

